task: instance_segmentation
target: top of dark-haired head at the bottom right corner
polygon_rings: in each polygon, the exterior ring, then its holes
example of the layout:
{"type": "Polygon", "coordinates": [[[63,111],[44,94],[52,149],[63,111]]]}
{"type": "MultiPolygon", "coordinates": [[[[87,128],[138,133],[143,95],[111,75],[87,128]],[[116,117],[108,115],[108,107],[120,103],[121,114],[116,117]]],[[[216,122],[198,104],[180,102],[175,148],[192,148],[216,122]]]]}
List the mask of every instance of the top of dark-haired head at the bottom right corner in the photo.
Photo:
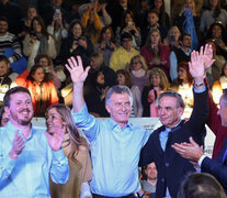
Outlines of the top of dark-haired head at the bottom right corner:
{"type": "Polygon", "coordinates": [[[212,175],[191,173],[181,184],[178,198],[226,198],[226,194],[212,175]]]}

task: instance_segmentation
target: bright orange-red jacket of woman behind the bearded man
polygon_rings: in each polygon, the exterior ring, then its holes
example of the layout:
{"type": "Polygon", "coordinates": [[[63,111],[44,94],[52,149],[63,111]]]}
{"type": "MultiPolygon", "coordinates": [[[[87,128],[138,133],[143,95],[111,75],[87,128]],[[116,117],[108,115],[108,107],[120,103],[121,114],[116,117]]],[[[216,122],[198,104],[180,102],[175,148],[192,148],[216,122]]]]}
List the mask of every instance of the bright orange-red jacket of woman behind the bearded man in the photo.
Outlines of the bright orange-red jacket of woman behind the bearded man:
{"type": "Polygon", "coordinates": [[[32,96],[32,103],[34,108],[35,117],[44,117],[46,109],[58,103],[59,99],[57,96],[57,90],[52,80],[43,82],[42,86],[35,81],[27,80],[30,72],[25,70],[15,79],[15,82],[19,86],[26,87],[30,90],[32,96]]]}

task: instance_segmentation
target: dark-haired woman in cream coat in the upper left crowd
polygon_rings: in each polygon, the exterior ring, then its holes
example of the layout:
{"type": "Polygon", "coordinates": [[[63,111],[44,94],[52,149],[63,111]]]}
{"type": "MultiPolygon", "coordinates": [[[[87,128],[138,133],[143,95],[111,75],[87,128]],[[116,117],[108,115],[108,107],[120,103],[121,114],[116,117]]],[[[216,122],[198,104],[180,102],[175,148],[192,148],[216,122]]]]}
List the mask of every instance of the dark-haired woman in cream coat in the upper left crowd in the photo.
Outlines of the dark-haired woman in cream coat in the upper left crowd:
{"type": "Polygon", "coordinates": [[[25,35],[23,41],[23,53],[29,59],[27,70],[34,65],[37,54],[46,53],[53,59],[57,56],[55,40],[47,32],[41,16],[34,16],[32,20],[31,32],[25,35]]]}

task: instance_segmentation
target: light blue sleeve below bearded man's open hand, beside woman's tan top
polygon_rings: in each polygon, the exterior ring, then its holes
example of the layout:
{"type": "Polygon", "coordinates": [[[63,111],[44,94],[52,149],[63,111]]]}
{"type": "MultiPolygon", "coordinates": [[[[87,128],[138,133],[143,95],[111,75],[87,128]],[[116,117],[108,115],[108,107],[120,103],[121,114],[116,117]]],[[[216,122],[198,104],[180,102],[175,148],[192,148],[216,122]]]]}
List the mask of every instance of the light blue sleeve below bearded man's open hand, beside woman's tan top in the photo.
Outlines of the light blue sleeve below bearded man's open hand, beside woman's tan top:
{"type": "Polygon", "coordinates": [[[53,162],[50,167],[52,180],[56,184],[65,184],[69,178],[68,158],[65,156],[64,151],[53,151],[53,162]]]}

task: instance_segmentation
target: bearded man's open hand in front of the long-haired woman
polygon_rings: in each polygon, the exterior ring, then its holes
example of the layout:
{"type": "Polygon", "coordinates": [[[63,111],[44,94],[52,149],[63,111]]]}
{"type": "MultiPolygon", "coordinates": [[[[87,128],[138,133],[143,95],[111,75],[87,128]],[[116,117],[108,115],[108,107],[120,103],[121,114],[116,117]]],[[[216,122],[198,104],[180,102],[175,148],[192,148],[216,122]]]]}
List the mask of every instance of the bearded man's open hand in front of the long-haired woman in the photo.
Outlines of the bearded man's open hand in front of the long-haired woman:
{"type": "Polygon", "coordinates": [[[55,124],[46,131],[46,138],[53,151],[59,151],[63,144],[64,134],[66,132],[65,124],[55,124]]]}

